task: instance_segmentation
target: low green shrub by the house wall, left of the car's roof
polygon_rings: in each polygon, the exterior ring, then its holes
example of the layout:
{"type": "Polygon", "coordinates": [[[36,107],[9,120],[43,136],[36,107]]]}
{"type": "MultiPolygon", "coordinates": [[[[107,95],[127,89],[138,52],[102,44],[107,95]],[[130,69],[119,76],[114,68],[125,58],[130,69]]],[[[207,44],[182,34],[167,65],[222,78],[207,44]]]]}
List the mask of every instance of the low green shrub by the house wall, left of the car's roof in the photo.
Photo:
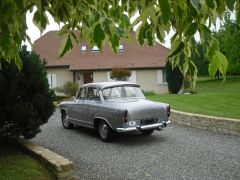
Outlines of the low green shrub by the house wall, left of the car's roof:
{"type": "Polygon", "coordinates": [[[76,95],[78,89],[79,89],[78,83],[68,81],[62,87],[57,87],[54,90],[58,93],[63,93],[68,97],[72,97],[76,95]]]}

